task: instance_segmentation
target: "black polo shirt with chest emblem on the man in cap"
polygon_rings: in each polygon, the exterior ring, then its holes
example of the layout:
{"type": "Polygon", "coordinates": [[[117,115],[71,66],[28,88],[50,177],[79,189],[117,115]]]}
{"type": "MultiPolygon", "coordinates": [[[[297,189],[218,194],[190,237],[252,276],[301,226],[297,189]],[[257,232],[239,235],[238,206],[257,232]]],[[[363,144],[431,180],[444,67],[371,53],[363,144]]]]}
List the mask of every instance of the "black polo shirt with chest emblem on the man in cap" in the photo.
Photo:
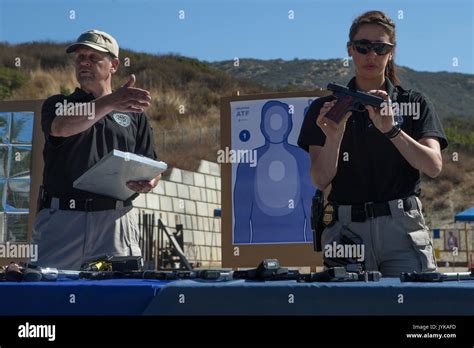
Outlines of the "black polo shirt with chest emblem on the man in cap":
{"type": "Polygon", "coordinates": [[[153,130],[143,113],[114,111],[81,133],[65,138],[51,135],[54,118],[61,117],[56,116],[56,103],[90,102],[94,99],[92,94],[76,88],[69,96],[55,95],[43,103],[41,127],[46,141],[43,186],[55,197],[103,198],[102,195],[75,189],[72,183],[114,149],[157,159],[153,130]]]}

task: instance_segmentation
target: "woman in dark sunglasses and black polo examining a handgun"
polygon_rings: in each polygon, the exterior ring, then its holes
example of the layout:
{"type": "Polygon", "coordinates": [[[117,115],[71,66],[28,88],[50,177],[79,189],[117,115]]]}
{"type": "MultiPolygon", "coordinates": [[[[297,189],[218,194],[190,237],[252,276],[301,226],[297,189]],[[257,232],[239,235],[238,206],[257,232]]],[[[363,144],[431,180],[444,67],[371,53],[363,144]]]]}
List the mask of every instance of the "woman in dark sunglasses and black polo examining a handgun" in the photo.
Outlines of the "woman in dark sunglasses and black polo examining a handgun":
{"type": "Polygon", "coordinates": [[[418,196],[420,172],[434,178],[441,171],[443,128],[423,94],[400,86],[395,24],[383,12],[354,20],[347,49],[355,67],[348,87],[380,96],[392,107],[368,105],[337,124],[325,117],[336,103],[328,96],[315,100],[306,114],[298,144],[309,152],[313,183],[322,191],[330,187],[322,216],[324,264],[357,258],[385,277],[434,271],[433,243],[418,196]],[[331,252],[351,243],[363,244],[363,255],[331,252]]]}

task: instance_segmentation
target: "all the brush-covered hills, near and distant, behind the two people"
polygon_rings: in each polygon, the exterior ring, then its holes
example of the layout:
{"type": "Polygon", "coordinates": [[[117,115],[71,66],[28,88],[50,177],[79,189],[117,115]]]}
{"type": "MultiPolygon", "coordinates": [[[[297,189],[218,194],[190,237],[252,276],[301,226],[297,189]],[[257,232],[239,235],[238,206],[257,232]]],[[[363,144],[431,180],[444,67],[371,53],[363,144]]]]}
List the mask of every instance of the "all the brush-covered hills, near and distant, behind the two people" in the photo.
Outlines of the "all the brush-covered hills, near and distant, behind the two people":
{"type": "MultiPolygon", "coordinates": [[[[244,59],[207,63],[178,55],[121,51],[114,86],[137,76],[137,86],[153,97],[147,110],[160,159],[170,166],[196,169],[200,159],[216,161],[220,147],[220,98],[275,91],[302,91],[328,82],[347,83],[352,67],[340,60],[261,61],[244,59]],[[123,63],[129,59],[130,66],[123,63]],[[184,109],[183,109],[184,107],[184,109]]],[[[400,69],[402,85],[423,91],[442,118],[450,146],[436,179],[423,176],[422,200],[428,222],[441,226],[474,205],[474,77],[467,74],[400,69]]],[[[77,82],[65,45],[0,44],[0,100],[69,94],[77,82]],[[20,59],[20,66],[16,66],[20,59]]]]}

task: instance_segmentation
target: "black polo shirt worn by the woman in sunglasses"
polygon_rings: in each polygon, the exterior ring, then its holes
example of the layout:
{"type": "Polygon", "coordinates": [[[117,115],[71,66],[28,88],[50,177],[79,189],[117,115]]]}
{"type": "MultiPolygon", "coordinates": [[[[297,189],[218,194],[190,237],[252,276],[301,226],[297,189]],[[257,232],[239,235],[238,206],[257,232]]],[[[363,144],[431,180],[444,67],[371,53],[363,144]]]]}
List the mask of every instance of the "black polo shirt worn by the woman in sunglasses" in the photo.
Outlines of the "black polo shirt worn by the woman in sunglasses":
{"type": "MultiPolygon", "coordinates": [[[[355,89],[355,78],[347,85],[355,89]]],[[[432,103],[421,93],[394,87],[386,79],[386,91],[392,101],[419,103],[419,118],[403,114],[395,117],[401,129],[415,140],[435,137],[441,149],[448,143],[441,122],[432,103]]],[[[322,105],[335,99],[327,96],[316,99],[303,121],[298,145],[309,151],[310,145],[324,146],[326,136],[316,124],[322,105]]],[[[403,111],[403,110],[401,110],[403,111]]],[[[367,110],[353,112],[348,119],[339,151],[336,176],[333,178],[328,200],[339,204],[386,202],[392,199],[419,195],[420,172],[400,154],[371,122],[367,110]],[[345,157],[348,161],[345,161],[345,157]]]]}

